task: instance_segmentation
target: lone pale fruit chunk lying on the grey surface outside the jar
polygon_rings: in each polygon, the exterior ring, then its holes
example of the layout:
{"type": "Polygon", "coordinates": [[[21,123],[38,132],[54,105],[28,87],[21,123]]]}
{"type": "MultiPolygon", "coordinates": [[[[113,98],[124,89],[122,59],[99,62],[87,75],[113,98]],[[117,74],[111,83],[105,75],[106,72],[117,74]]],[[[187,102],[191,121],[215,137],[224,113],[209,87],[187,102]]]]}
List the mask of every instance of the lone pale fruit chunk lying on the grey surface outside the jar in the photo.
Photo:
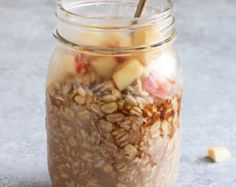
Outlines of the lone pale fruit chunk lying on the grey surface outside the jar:
{"type": "Polygon", "coordinates": [[[214,162],[221,162],[231,157],[230,151],[225,147],[210,147],[208,157],[214,162]]]}

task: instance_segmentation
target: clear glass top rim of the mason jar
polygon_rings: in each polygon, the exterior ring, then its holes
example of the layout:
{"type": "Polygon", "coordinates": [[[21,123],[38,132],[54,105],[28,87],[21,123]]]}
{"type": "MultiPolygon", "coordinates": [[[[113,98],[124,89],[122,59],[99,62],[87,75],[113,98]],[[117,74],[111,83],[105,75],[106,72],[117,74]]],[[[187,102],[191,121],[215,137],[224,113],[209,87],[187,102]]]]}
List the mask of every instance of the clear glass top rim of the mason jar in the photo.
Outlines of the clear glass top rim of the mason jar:
{"type": "MultiPolygon", "coordinates": [[[[152,14],[150,16],[141,16],[141,17],[95,17],[95,16],[86,16],[79,13],[75,13],[71,10],[69,10],[70,6],[74,6],[77,4],[77,6],[83,7],[83,6],[89,6],[93,4],[97,4],[98,2],[101,3],[120,3],[119,0],[80,0],[76,1],[76,3],[71,3],[71,5],[68,4],[68,7],[66,7],[63,4],[64,0],[58,0],[58,9],[56,16],[61,21],[65,21],[67,23],[73,24],[73,25],[80,25],[83,27],[90,27],[90,28],[102,28],[102,29],[122,29],[122,28],[137,28],[142,27],[143,25],[149,25],[153,22],[158,22],[159,20],[165,19],[167,16],[169,16],[172,12],[173,8],[173,2],[172,0],[166,0],[167,6],[163,10],[159,10],[157,8],[154,8],[152,6],[147,5],[146,8],[155,9],[156,13],[152,14]],[[157,12],[158,11],[158,12],[157,12]],[[67,19],[70,17],[70,19],[67,19]],[[76,21],[76,19],[79,19],[80,22],[76,21]],[[104,21],[104,24],[102,24],[101,21],[104,21]],[[108,26],[106,22],[111,22],[113,26],[108,26]],[[127,25],[123,25],[123,23],[126,22],[127,25]],[[89,23],[89,24],[83,24],[83,23],[89,23]],[[95,24],[94,24],[95,23],[95,24]],[[96,24],[99,23],[99,24],[96,24]],[[130,23],[138,23],[138,24],[130,24],[130,23]]],[[[73,1],[73,0],[72,0],[73,1]]],[[[127,5],[137,6],[137,3],[134,2],[128,2],[127,5]]]]}

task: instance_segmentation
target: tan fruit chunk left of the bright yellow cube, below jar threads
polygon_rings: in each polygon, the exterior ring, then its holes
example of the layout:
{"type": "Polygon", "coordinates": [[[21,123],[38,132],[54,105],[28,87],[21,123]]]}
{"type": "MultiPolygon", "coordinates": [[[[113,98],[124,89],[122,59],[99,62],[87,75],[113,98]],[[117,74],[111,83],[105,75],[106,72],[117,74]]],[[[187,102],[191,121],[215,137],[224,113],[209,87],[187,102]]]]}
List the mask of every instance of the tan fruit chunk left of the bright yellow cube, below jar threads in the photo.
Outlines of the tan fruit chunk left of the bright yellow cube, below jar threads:
{"type": "Polygon", "coordinates": [[[114,57],[98,57],[93,59],[91,66],[102,77],[110,78],[117,65],[114,57]]]}

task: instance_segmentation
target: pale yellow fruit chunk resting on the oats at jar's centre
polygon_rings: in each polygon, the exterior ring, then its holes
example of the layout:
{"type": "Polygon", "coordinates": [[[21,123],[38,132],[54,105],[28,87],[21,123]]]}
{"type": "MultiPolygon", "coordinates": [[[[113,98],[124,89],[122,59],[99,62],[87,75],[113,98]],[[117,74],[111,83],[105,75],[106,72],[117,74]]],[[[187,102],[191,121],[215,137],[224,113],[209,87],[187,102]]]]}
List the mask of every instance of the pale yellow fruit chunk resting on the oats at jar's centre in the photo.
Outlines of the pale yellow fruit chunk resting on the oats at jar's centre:
{"type": "Polygon", "coordinates": [[[124,90],[143,73],[143,67],[138,60],[131,59],[122,63],[113,75],[113,80],[119,90],[124,90]]]}

